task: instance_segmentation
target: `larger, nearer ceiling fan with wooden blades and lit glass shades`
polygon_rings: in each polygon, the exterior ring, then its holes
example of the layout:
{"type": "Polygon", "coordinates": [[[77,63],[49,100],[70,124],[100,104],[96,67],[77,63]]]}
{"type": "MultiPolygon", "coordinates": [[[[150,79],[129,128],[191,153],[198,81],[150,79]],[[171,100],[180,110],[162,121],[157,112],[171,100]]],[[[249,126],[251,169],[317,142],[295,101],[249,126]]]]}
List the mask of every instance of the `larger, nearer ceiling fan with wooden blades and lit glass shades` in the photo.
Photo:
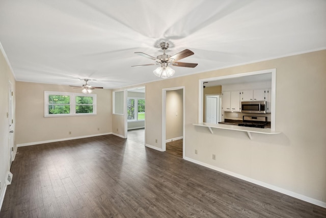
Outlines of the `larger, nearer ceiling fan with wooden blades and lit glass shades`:
{"type": "Polygon", "coordinates": [[[188,56],[194,55],[195,53],[193,53],[192,51],[185,49],[173,56],[167,55],[165,54],[165,51],[169,48],[169,43],[168,42],[161,42],[160,44],[161,49],[163,50],[163,54],[157,56],[156,58],[150,55],[147,55],[143,52],[135,52],[135,54],[144,56],[146,58],[155,60],[156,63],[153,64],[143,64],[143,65],[135,65],[132,67],[138,67],[138,66],[150,66],[150,65],[157,65],[159,64],[160,66],[157,67],[153,72],[154,75],[156,75],[157,77],[161,77],[161,78],[168,78],[174,75],[175,71],[174,69],[172,69],[170,66],[168,66],[169,64],[173,65],[173,66],[181,66],[181,67],[196,67],[198,64],[196,63],[185,63],[185,62],[177,62],[178,60],[181,60],[183,58],[186,58],[188,56]]]}

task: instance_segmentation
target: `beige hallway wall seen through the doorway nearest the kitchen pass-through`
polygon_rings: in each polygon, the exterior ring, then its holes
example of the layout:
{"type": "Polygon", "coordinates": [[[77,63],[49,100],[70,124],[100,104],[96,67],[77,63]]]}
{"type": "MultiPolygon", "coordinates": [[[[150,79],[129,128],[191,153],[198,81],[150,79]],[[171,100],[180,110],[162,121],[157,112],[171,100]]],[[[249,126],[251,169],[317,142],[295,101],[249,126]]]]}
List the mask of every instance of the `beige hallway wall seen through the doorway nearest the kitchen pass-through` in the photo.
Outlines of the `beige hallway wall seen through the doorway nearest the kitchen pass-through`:
{"type": "Polygon", "coordinates": [[[183,89],[167,90],[166,94],[166,141],[183,136],[183,89]]]}

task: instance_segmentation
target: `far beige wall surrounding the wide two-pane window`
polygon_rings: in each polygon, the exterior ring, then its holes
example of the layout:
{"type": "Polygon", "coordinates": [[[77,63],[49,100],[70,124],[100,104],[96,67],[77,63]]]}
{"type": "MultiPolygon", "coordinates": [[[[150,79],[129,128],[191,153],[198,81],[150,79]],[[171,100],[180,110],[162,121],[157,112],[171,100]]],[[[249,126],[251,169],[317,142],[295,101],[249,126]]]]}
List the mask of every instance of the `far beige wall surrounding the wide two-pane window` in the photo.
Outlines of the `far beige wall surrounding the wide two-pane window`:
{"type": "Polygon", "coordinates": [[[81,90],[70,86],[17,82],[16,91],[16,140],[19,145],[112,132],[111,90],[95,89],[92,92],[97,94],[96,115],[46,118],[44,91],[81,92],[81,90]]]}

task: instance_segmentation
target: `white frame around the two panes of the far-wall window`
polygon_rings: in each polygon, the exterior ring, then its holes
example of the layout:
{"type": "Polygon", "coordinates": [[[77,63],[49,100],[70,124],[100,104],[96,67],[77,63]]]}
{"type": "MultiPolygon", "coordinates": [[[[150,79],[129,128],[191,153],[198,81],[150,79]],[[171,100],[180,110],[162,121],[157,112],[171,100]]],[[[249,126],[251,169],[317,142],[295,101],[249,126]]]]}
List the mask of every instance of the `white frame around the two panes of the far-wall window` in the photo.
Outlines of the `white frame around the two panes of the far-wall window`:
{"type": "Polygon", "coordinates": [[[84,94],[76,92],[59,92],[59,91],[44,91],[44,117],[60,117],[60,116],[90,116],[96,115],[96,94],[84,94]],[[66,95],[70,97],[70,113],[67,114],[49,114],[49,95],[66,95]],[[93,97],[93,113],[76,113],[76,96],[93,97]]]}

